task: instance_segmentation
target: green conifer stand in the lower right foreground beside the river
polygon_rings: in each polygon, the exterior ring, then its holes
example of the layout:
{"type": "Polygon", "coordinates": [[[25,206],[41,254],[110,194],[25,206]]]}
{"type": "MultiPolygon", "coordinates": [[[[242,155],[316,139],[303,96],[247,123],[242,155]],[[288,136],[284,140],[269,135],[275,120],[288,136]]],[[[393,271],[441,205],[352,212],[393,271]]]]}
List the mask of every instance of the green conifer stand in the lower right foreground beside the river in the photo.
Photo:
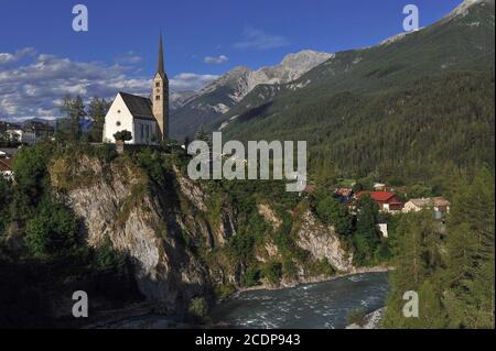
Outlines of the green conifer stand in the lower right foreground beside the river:
{"type": "Polygon", "coordinates": [[[432,211],[403,215],[393,230],[386,328],[494,328],[494,172],[460,177],[445,227],[432,211]],[[406,292],[419,296],[407,318],[406,292]]]}

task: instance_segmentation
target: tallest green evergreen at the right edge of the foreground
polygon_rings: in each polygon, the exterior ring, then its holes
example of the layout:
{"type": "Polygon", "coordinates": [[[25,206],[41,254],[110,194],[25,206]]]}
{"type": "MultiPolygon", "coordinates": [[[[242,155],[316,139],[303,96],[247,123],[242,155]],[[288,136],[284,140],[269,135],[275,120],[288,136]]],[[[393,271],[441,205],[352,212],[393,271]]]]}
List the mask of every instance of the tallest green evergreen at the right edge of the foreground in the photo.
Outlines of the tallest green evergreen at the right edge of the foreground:
{"type": "Polygon", "coordinates": [[[453,201],[445,305],[454,328],[494,328],[494,174],[483,169],[453,201]]]}

